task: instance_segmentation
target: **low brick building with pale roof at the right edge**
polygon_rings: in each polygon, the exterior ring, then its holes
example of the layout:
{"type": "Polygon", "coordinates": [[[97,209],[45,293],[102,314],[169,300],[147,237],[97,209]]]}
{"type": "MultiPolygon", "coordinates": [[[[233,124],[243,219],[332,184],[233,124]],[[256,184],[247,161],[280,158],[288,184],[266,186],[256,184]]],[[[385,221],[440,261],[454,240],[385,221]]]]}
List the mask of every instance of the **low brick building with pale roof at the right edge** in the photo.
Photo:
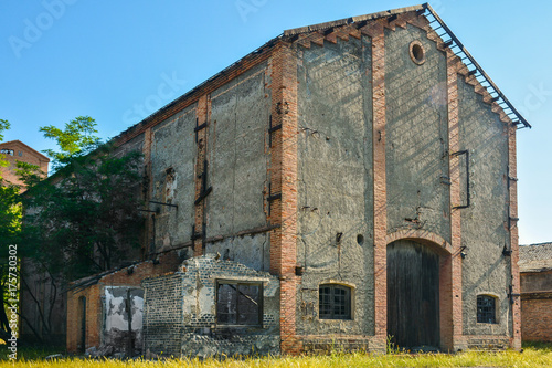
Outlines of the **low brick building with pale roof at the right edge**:
{"type": "Polygon", "coordinates": [[[552,243],[519,249],[521,338],[552,343],[552,243]]]}

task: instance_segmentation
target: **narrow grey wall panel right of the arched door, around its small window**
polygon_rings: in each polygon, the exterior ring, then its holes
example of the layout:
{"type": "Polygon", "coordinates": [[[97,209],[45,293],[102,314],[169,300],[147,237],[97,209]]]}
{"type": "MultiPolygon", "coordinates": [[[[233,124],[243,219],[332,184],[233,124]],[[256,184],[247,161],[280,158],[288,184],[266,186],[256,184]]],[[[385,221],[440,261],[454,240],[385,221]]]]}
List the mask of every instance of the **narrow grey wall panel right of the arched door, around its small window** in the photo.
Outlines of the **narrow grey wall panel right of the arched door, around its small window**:
{"type": "MultiPolygon", "coordinates": [[[[511,283],[508,232],[508,130],[474,86],[458,78],[459,148],[469,150],[469,183],[465,164],[459,167],[463,201],[463,319],[465,335],[506,335],[512,333],[508,287],[511,283]],[[497,299],[497,323],[477,323],[477,295],[497,299]]],[[[464,157],[461,157],[464,161],[464,157]]],[[[516,225],[516,223],[511,223],[516,225]]]]}

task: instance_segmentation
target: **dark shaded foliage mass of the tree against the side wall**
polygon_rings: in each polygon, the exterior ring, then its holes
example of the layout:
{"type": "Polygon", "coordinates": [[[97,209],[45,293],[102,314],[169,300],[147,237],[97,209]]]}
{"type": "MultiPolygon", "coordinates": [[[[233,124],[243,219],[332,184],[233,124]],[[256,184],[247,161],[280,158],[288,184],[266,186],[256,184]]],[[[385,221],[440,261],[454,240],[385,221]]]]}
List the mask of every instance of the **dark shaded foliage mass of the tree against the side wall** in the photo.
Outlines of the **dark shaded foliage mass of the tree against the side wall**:
{"type": "Polygon", "coordinates": [[[103,145],[33,186],[23,199],[29,255],[67,281],[124,260],[138,246],[142,225],[140,157],[136,151],[118,157],[103,145]]]}

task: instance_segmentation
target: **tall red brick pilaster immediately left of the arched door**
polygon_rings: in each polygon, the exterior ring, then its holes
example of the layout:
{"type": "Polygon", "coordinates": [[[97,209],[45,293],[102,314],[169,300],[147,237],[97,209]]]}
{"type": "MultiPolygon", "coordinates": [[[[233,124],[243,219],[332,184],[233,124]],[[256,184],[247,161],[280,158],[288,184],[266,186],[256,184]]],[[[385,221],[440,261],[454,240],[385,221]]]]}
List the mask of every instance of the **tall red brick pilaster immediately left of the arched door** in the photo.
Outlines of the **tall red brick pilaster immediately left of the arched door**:
{"type": "MultiPolygon", "coordinates": [[[[362,28],[372,38],[374,175],[374,348],[388,336],[388,193],[385,178],[385,35],[382,21],[362,28]]],[[[383,345],[383,346],[380,346],[383,345]]]]}

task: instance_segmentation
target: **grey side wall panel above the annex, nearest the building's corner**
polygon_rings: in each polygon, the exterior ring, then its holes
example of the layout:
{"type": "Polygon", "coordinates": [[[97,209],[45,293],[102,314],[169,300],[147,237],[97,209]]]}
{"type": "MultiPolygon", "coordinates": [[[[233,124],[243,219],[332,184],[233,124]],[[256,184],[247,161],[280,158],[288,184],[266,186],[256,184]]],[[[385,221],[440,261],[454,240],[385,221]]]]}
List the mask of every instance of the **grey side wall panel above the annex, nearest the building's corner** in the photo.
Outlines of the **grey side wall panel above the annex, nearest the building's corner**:
{"type": "MultiPolygon", "coordinates": [[[[270,108],[267,67],[267,63],[257,65],[211,93],[206,156],[213,192],[206,206],[208,238],[266,224],[265,135],[270,108]]],[[[231,252],[238,257],[237,253],[247,250],[231,252]]]]}

